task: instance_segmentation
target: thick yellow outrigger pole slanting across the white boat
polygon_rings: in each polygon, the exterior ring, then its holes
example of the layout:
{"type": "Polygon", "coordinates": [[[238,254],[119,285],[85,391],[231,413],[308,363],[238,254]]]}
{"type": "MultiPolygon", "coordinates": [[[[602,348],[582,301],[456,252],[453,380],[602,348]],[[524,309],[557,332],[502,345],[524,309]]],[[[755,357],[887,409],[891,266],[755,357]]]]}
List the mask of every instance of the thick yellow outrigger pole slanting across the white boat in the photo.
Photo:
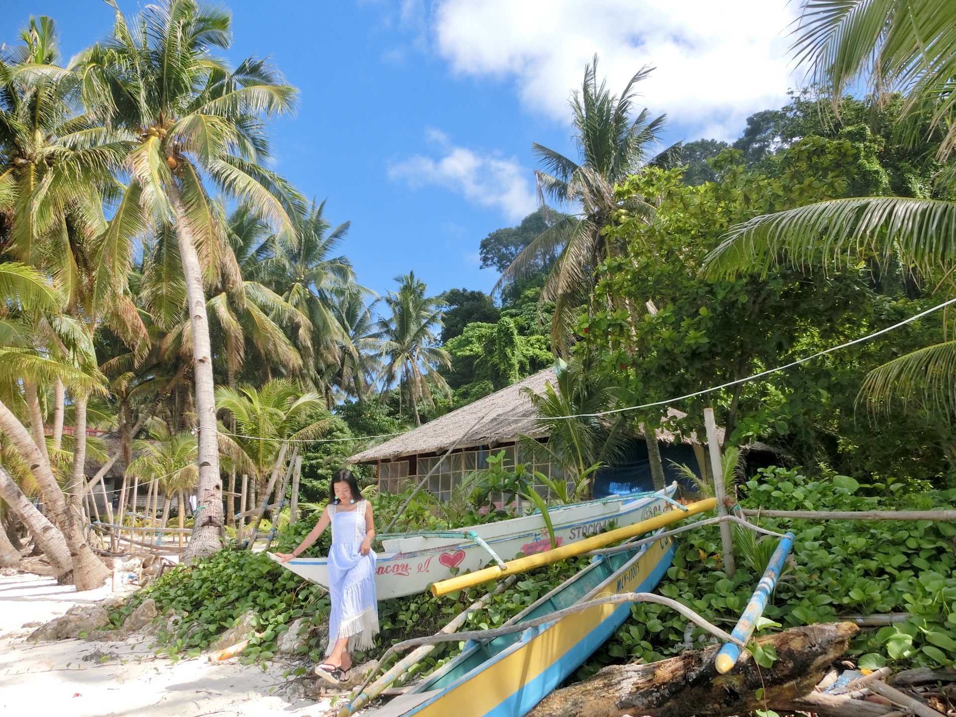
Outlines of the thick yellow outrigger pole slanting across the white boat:
{"type": "Polygon", "coordinates": [[[534,568],[540,568],[542,565],[550,565],[558,560],[564,560],[568,557],[574,557],[588,551],[603,548],[611,543],[617,543],[619,540],[625,540],[644,532],[656,531],[665,525],[670,525],[678,520],[696,515],[701,512],[712,511],[717,506],[716,498],[707,498],[687,506],[686,511],[671,510],[655,515],[653,518],[641,520],[640,523],[629,525],[624,528],[618,528],[614,531],[602,532],[598,535],[592,535],[589,538],[578,540],[570,545],[563,545],[554,550],[535,553],[527,557],[519,557],[516,560],[509,560],[504,567],[485,568],[477,570],[474,573],[467,573],[463,576],[450,577],[447,580],[441,580],[431,586],[431,594],[435,597],[447,595],[455,590],[464,590],[475,585],[481,585],[489,580],[497,580],[502,577],[511,576],[515,573],[526,573],[534,568]]]}

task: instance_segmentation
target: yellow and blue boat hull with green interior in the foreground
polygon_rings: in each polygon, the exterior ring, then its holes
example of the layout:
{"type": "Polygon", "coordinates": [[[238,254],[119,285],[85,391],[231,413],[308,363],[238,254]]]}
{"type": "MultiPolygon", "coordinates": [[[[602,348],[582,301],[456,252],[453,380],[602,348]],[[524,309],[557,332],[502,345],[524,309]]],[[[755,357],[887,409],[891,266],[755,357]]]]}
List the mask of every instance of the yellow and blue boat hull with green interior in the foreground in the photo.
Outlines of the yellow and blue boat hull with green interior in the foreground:
{"type": "MultiPolygon", "coordinates": [[[[663,529],[661,529],[663,532],[663,529]]],[[[670,567],[673,539],[597,556],[576,576],[507,624],[520,624],[597,597],[650,592],[670,567]]],[[[630,615],[627,603],[596,605],[489,641],[469,641],[374,717],[520,717],[587,660],[630,615]]]]}

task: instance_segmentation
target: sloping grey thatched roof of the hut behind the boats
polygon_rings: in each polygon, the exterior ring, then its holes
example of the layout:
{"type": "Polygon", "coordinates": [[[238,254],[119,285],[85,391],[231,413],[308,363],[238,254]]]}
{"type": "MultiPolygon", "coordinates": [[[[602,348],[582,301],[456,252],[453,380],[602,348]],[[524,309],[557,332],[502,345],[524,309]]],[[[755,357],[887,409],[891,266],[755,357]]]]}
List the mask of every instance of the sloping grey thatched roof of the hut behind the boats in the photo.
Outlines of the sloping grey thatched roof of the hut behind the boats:
{"type": "MultiPolygon", "coordinates": [[[[346,463],[390,461],[402,456],[438,453],[447,450],[456,442],[459,448],[494,446],[514,442],[522,433],[543,438],[548,433],[536,429],[535,419],[532,418],[532,402],[521,389],[530,388],[534,393],[541,393],[545,383],[555,380],[554,369],[546,368],[527,379],[495,391],[484,399],[468,403],[467,406],[402,433],[401,436],[363,450],[349,458],[346,463]]],[[[668,408],[667,411],[673,416],[684,416],[673,408],[668,408]]],[[[672,433],[662,429],[658,430],[657,436],[659,440],[667,442],[673,442],[675,439],[672,433]]]]}

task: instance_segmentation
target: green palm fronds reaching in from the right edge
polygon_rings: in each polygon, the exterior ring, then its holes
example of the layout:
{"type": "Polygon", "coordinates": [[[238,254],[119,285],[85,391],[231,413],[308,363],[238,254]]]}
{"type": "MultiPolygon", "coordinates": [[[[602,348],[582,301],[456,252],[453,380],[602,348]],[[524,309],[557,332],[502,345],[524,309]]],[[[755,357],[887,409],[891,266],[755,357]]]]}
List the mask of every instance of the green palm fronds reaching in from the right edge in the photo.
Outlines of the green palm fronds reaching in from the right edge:
{"type": "MultiPolygon", "coordinates": [[[[942,122],[951,113],[956,57],[956,15],[944,0],[804,0],[794,48],[813,65],[817,79],[838,98],[847,81],[875,89],[902,89],[910,109],[927,102],[942,122]],[[931,100],[931,101],[930,101],[931,100]],[[945,112],[944,112],[945,110],[945,112]],[[944,114],[939,114],[944,112],[944,114]]],[[[953,126],[947,135],[953,141],[953,126]]],[[[945,149],[946,142],[944,142],[945,149]]],[[[886,271],[907,271],[953,290],[956,269],[956,203],[906,197],[855,197],[767,214],[731,228],[707,257],[704,271],[765,275],[787,262],[852,265],[876,260],[886,271]]],[[[872,371],[860,398],[871,407],[892,399],[956,411],[956,341],[926,347],[872,371]]]]}

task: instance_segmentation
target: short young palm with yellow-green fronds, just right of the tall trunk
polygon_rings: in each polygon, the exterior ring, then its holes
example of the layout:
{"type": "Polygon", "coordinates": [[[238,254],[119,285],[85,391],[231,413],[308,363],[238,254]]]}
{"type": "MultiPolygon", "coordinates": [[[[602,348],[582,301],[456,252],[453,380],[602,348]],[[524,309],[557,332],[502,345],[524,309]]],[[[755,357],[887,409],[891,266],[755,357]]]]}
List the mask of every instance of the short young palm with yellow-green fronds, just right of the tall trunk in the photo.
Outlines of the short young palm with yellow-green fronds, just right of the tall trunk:
{"type": "Polygon", "coordinates": [[[251,468],[260,496],[283,442],[317,438],[329,424],[327,418],[312,421],[315,412],[325,408],[322,398],[315,392],[303,392],[297,382],[288,379],[273,379],[261,388],[219,386],[216,403],[231,414],[236,426],[237,435],[223,442],[224,452],[237,464],[251,468]]]}

